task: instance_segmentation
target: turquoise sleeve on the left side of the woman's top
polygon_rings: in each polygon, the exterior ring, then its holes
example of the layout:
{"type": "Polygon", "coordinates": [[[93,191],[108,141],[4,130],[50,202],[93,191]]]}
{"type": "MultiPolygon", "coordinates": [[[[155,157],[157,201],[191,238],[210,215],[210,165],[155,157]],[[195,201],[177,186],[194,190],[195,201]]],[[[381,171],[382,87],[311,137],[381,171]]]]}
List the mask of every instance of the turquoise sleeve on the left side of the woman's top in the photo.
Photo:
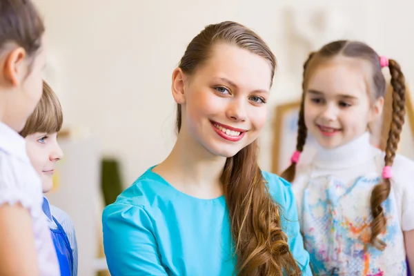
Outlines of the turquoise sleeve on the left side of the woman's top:
{"type": "Polygon", "coordinates": [[[112,276],[166,276],[150,216],[142,206],[115,202],[103,210],[103,248],[112,276]]]}

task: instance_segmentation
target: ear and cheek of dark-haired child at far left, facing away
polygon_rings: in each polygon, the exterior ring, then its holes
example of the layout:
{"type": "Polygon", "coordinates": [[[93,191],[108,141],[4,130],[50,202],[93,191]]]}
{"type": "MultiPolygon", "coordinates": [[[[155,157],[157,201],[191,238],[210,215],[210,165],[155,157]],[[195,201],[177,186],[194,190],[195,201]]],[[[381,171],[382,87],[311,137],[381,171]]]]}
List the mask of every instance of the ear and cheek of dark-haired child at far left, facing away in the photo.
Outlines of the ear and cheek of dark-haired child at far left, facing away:
{"type": "Polygon", "coordinates": [[[3,122],[17,132],[41,98],[42,71],[46,64],[46,48],[43,45],[33,57],[27,57],[23,48],[15,48],[3,59],[3,90],[8,91],[3,122]],[[5,89],[6,88],[6,89],[5,89]]]}

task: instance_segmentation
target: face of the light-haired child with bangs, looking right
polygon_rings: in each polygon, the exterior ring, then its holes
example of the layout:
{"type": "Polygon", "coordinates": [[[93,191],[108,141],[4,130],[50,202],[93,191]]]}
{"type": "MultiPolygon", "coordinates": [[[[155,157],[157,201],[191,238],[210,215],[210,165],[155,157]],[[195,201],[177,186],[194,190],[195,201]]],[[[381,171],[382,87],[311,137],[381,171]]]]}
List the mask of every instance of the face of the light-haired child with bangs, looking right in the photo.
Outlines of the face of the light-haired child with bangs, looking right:
{"type": "Polygon", "coordinates": [[[43,193],[52,190],[53,174],[56,162],[63,157],[63,152],[57,143],[57,132],[35,132],[26,138],[26,150],[30,161],[43,183],[43,193]]]}

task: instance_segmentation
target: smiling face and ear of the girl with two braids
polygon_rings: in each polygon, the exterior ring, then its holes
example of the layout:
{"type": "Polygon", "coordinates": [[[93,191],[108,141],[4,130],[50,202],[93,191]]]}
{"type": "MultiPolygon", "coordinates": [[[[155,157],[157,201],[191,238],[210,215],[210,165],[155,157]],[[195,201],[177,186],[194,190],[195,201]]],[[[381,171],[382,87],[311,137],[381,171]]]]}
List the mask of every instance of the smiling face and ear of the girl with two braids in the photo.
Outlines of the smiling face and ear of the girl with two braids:
{"type": "Polygon", "coordinates": [[[382,112],[384,99],[372,100],[369,64],[339,58],[322,63],[308,80],[304,98],[306,128],[324,148],[337,148],[366,132],[382,112]]]}

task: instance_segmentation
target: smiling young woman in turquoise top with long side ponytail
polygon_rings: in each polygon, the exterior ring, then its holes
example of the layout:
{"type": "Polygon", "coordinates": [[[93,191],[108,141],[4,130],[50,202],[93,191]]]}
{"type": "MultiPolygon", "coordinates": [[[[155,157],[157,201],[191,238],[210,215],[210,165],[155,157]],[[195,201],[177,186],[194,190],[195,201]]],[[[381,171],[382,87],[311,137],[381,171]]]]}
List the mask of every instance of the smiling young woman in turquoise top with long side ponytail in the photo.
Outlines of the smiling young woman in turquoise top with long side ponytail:
{"type": "Polygon", "coordinates": [[[238,23],[189,43],[172,73],[172,152],[103,211],[112,276],[311,275],[290,184],[257,165],[275,66],[238,23]]]}

